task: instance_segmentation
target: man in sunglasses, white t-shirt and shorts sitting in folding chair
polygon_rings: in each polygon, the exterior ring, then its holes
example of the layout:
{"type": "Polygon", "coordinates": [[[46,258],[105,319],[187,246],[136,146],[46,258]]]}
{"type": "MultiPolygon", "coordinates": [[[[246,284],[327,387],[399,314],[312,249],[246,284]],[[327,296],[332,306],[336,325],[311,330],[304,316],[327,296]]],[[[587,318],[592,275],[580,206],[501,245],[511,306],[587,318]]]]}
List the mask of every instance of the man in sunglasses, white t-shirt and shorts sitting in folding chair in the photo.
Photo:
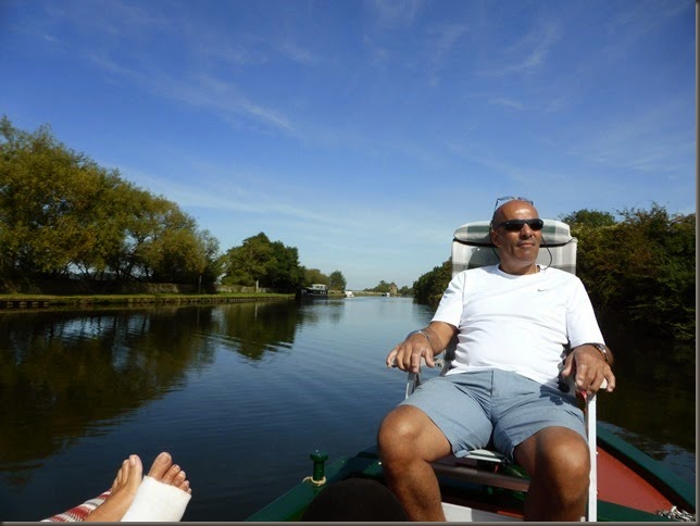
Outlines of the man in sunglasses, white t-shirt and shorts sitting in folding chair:
{"type": "MultiPolygon", "coordinates": [[[[497,202],[498,203],[498,202],[497,202]]],[[[590,472],[573,389],[615,388],[612,354],[573,274],[536,264],[542,222],[530,201],[493,212],[500,264],[458,274],[430,324],[391,350],[387,365],[434,366],[453,336],[455,360],[392,410],[378,434],[390,489],[413,521],[445,521],[430,462],[492,444],[530,476],[525,519],[579,521],[590,472]],[[571,349],[571,352],[566,352],[571,349]]]]}

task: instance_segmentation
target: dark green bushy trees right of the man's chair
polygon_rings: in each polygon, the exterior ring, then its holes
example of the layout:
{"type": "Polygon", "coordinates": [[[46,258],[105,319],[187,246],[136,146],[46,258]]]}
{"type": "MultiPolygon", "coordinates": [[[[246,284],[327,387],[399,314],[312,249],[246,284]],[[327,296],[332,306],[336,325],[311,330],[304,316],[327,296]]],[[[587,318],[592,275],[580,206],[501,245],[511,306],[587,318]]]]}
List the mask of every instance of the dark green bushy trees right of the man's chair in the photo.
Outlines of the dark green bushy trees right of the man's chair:
{"type": "Polygon", "coordinates": [[[593,305],[625,312],[646,329],[695,338],[696,217],[625,209],[613,226],[584,228],[578,275],[593,305]]]}

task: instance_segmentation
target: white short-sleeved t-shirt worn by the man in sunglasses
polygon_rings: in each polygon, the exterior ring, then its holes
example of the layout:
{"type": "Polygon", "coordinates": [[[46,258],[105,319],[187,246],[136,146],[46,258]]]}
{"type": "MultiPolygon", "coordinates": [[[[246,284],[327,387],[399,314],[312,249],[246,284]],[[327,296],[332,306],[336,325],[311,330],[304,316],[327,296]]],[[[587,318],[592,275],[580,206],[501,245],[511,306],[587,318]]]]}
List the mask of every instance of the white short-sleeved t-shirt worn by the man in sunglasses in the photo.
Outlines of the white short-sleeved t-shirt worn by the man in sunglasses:
{"type": "Polygon", "coordinates": [[[566,346],[604,343],[584,284],[559,268],[515,276],[463,271],[433,317],[458,328],[448,374],[499,368],[557,388],[566,346]]]}

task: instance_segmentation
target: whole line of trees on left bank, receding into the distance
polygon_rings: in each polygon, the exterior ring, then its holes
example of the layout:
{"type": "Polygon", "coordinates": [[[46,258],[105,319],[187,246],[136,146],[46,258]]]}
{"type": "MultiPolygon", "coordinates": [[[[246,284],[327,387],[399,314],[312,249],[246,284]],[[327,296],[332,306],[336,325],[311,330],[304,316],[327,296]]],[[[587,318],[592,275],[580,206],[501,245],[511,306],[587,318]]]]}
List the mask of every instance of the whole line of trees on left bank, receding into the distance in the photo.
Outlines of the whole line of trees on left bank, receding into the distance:
{"type": "Polygon", "coordinates": [[[221,254],[176,203],[68,149],[48,125],[27,133],[0,120],[0,293],[139,293],[143,284],[289,293],[313,283],[347,285],[264,233],[221,254]]]}

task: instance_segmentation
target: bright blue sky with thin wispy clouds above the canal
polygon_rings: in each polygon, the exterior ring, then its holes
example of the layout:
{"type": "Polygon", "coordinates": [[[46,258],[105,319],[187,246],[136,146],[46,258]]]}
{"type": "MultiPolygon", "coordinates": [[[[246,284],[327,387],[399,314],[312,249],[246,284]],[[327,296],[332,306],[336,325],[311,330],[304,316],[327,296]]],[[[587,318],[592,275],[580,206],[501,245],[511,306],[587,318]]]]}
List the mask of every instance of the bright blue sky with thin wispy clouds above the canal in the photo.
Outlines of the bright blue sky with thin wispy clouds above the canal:
{"type": "Polygon", "coordinates": [[[454,229],[696,209],[691,0],[0,1],[0,113],[348,288],[454,229]]]}

